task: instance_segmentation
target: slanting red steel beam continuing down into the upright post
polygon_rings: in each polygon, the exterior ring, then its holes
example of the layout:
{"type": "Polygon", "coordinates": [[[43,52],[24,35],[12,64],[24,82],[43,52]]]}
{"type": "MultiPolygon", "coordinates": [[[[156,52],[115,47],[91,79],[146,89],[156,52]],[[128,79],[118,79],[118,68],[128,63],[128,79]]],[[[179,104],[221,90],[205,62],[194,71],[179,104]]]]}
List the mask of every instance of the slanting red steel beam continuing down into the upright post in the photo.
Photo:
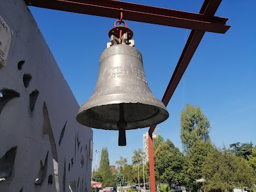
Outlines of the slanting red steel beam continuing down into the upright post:
{"type": "MultiPolygon", "coordinates": [[[[220,3],[221,3],[221,0],[212,0],[212,1],[205,0],[200,10],[200,13],[208,16],[214,15],[216,10],[220,6],[220,3]]],[[[191,31],[188,41],[186,42],[184,50],[182,51],[182,54],[177,63],[177,66],[173,72],[170,83],[168,84],[166,91],[164,93],[162,101],[165,106],[168,105],[168,102],[172,98],[172,95],[175,92],[175,89],[177,88],[180,82],[180,79],[182,78],[186,68],[188,67],[189,62],[191,61],[198,45],[200,44],[200,41],[202,40],[204,33],[205,31],[196,31],[196,30],[191,31]]],[[[156,129],[156,125],[153,125],[148,130],[148,155],[149,155],[149,170],[150,170],[150,188],[152,189],[151,192],[156,191],[155,173],[154,173],[155,171],[154,170],[154,149],[153,149],[153,142],[152,142],[152,134],[155,129],[156,129]]]]}

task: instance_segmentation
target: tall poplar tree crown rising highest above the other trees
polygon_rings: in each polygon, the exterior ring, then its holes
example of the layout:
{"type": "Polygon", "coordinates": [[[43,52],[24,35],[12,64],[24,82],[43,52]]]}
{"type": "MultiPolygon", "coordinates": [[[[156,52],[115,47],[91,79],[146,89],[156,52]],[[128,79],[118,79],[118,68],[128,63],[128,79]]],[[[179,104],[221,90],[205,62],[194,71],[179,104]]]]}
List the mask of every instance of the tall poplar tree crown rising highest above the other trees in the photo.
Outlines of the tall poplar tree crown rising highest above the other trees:
{"type": "Polygon", "coordinates": [[[211,125],[199,106],[186,105],[180,114],[180,127],[180,139],[186,153],[191,151],[195,141],[210,141],[211,125]]]}

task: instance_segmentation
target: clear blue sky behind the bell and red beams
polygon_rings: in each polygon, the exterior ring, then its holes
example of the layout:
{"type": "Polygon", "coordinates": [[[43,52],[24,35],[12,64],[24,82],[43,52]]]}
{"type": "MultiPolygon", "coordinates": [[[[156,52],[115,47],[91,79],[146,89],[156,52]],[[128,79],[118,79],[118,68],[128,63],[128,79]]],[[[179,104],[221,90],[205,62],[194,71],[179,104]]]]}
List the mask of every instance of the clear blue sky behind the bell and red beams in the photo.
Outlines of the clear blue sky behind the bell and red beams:
{"type": "MultiPolygon", "coordinates": [[[[186,12],[199,12],[203,1],[134,0],[186,12]]],[[[216,16],[232,26],[225,35],[205,33],[189,67],[168,104],[170,117],[158,133],[182,150],[180,111],[199,105],[211,122],[211,140],[217,147],[230,143],[256,144],[256,2],[223,1],[216,16]]],[[[79,105],[95,88],[99,56],[109,42],[108,31],[116,19],[29,7],[79,105]]],[[[190,30],[127,20],[135,47],[143,55],[148,85],[162,99],[190,30]]],[[[142,134],[127,131],[127,146],[118,147],[117,131],[93,129],[94,149],[108,147],[110,164],[120,156],[131,163],[134,149],[143,148],[142,134]]],[[[99,158],[98,156],[98,165],[99,158]]],[[[94,154],[94,161],[96,154],[94,154]]]]}

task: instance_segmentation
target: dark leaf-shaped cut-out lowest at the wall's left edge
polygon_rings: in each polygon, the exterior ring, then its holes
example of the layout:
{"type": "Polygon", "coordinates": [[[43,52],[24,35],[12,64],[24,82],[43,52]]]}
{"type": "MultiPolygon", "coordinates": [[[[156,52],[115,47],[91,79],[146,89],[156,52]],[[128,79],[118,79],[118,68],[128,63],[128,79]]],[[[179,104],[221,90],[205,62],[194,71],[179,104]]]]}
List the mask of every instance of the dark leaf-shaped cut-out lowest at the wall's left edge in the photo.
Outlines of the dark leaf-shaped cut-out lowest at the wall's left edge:
{"type": "Polygon", "coordinates": [[[14,161],[17,153],[17,146],[12,147],[0,159],[0,181],[5,180],[12,175],[14,161]]]}

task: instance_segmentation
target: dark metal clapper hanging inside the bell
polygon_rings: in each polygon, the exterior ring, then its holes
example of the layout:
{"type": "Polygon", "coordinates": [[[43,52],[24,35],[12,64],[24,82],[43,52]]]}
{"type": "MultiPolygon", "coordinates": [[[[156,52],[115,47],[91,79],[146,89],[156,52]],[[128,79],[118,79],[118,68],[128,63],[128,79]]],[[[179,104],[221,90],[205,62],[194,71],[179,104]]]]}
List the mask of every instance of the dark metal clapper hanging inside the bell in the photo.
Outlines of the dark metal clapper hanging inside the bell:
{"type": "Polygon", "coordinates": [[[124,103],[119,104],[119,120],[116,122],[116,126],[119,129],[118,145],[126,146],[125,129],[127,127],[127,122],[124,119],[124,103]]]}

